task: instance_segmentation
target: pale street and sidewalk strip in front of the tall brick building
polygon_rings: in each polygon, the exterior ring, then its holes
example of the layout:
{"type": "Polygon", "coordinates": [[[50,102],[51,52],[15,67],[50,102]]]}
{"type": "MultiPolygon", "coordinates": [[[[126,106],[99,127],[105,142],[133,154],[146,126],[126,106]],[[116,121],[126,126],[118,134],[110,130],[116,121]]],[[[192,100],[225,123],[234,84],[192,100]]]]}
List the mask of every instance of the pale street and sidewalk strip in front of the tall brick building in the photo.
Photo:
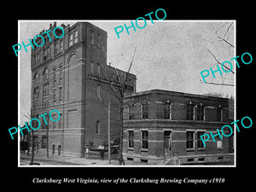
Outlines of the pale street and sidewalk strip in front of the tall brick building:
{"type": "MultiPolygon", "coordinates": [[[[31,162],[31,153],[20,152],[20,166],[29,166],[31,162]]],[[[97,159],[96,157],[80,158],[75,156],[64,156],[64,155],[52,155],[49,154],[49,158],[45,152],[38,152],[34,154],[34,163],[39,163],[38,166],[117,166],[117,160],[111,160],[111,164],[108,163],[108,155],[105,155],[105,160],[97,159]]]]}

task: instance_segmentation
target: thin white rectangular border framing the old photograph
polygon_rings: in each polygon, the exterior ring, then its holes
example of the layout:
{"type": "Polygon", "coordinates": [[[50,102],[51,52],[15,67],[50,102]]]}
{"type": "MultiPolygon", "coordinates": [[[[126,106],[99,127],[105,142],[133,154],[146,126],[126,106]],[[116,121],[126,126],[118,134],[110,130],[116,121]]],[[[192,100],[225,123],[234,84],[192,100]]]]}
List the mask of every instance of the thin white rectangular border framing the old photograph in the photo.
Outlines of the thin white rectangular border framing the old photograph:
{"type": "MultiPolygon", "coordinates": [[[[54,22],[54,21],[88,21],[88,22],[128,22],[131,20],[17,20],[18,21],[18,42],[20,42],[20,22],[35,22],[35,21],[39,21],[39,22],[54,22]]],[[[142,21],[142,20],[139,20],[142,21]]],[[[235,50],[234,50],[234,56],[236,56],[236,20],[154,20],[154,22],[226,22],[226,21],[233,21],[234,22],[234,43],[235,43],[235,50]]],[[[235,120],[236,120],[236,68],[235,68],[235,79],[234,79],[234,83],[235,83],[235,99],[234,99],[234,114],[235,114],[235,120]]],[[[20,52],[18,52],[18,123],[20,125],[20,52]]],[[[230,166],[153,166],[153,165],[148,165],[148,166],[20,166],[20,134],[18,134],[18,167],[236,167],[236,129],[234,129],[235,134],[234,134],[234,139],[235,139],[235,146],[234,146],[234,165],[230,165],[230,166]]]]}

